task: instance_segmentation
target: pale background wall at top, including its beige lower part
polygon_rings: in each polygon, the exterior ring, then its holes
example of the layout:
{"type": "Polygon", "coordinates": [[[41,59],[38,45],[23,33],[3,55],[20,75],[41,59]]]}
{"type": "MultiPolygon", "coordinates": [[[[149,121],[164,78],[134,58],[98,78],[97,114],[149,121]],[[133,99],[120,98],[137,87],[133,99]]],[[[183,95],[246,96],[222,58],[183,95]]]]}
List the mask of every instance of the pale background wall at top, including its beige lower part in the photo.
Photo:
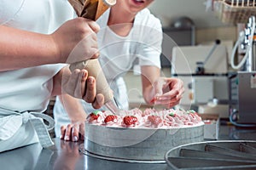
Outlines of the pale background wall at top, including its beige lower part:
{"type": "Polygon", "coordinates": [[[217,38],[236,42],[236,25],[223,23],[212,8],[207,10],[207,0],[155,0],[150,11],[161,20],[163,27],[177,18],[187,16],[195,23],[195,44],[214,42],[217,38]]]}

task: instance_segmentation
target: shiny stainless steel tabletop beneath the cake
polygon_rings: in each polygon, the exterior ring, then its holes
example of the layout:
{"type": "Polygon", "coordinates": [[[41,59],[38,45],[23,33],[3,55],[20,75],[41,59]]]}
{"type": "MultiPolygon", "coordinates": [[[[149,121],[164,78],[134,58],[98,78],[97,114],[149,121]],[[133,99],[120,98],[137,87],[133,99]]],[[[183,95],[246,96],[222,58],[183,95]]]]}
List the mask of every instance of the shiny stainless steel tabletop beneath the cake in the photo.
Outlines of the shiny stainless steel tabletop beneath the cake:
{"type": "MultiPolygon", "coordinates": [[[[255,139],[253,129],[237,129],[232,126],[221,126],[219,139],[255,139]]],[[[129,163],[107,161],[79,152],[82,141],[66,142],[54,139],[55,145],[49,149],[42,149],[40,144],[31,144],[16,150],[0,154],[0,169],[2,170],[46,170],[46,169],[86,169],[86,170],[165,170],[166,163],[129,163]]],[[[171,149],[171,148],[170,148],[171,149]]]]}

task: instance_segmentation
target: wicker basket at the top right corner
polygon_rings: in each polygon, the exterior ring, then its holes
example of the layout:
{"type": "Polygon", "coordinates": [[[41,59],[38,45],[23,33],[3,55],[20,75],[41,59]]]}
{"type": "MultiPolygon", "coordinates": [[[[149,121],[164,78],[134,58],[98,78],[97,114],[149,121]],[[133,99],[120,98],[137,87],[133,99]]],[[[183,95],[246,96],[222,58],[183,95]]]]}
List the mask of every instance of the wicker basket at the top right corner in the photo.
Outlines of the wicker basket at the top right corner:
{"type": "Polygon", "coordinates": [[[224,23],[247,23],[256,15],[256,0],[214,0],[214,11],[224,23]]]}

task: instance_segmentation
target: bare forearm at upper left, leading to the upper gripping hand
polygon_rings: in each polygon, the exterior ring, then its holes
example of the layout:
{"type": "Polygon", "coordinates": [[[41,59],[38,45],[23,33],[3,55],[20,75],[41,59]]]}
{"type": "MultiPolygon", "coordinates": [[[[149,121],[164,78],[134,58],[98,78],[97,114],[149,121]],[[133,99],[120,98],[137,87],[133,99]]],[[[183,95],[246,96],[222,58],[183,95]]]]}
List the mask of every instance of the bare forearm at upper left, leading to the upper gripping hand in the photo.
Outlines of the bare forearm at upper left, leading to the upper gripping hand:
{"type": "Polygon", "coordinates": [[[0,71],[58,63],[50,35],[0,26],[0,71]]]}

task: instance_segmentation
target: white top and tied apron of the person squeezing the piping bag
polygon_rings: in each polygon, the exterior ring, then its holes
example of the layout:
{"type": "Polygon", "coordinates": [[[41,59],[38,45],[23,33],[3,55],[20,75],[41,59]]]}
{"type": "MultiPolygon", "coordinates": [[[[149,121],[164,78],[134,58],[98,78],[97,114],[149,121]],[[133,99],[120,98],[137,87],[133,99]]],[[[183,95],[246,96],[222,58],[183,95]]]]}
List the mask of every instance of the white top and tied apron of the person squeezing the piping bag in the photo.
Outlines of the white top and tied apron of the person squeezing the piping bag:
{"type": "MultiPolygon", "coordinates": [[[[73,7],[67,0],[0,0],[0,24],[4,26],[49,34],[73,18],[73,7]]],[[[53,88],[52,77],[63,66],[0,71],[0,152],[38,142],[27,121],[32,115],[27,113],[45,111],[53,88]]]]}

